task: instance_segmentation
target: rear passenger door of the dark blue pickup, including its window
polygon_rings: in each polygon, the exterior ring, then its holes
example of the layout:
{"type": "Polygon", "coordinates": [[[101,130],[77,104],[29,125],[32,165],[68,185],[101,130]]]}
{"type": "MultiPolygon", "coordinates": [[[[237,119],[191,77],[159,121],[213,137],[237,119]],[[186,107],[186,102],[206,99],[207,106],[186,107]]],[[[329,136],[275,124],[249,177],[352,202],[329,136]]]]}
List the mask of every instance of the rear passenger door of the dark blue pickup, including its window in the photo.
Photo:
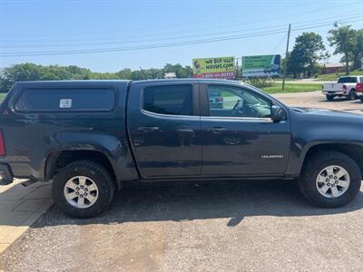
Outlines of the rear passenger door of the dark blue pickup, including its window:
{"type": "Polygon", "coordinates": [[[197,83],[133,83],[129,135],[142,177],[201,173],[201,118],[197,83]]]}

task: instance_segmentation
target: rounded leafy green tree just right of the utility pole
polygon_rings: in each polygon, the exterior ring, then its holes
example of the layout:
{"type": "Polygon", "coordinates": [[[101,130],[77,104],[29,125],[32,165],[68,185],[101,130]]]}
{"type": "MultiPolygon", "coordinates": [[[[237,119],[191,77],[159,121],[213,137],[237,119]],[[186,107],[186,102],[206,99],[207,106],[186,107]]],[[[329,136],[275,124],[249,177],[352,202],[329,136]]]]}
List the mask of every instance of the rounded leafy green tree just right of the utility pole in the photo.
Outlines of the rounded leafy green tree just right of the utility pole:
{"type": "Polygon", "coordinates": [[[305,32],[295,40],[294,48],[289,54],[288,72],[306,73],[309,77],[317,69],[318,61],[326,58],[328,53],[319,34],[305,32]]]}

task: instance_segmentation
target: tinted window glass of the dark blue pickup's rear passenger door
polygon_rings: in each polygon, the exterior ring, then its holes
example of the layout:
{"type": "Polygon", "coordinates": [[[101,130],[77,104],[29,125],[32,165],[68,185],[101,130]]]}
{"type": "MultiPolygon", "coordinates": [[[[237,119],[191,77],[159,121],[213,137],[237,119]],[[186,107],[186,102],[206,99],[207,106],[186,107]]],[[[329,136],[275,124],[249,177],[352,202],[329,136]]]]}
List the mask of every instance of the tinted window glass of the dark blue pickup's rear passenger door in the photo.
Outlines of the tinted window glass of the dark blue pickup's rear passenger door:
{"type": "Polygon", "coordinates": [[[152,86],[143,90],[143,110],[160,114],[192,115],[191,84],[152,86]]]}

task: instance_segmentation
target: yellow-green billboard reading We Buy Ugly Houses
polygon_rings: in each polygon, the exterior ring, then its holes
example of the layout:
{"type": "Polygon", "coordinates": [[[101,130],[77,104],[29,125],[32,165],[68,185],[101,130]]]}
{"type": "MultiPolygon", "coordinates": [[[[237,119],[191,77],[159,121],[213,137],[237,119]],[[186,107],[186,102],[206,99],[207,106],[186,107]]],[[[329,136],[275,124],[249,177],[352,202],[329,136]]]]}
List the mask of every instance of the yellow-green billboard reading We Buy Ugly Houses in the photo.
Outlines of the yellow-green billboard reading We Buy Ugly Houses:
{"type": "Polygon", "coordinates": [[[234,57],[192,59],[193,77],[234,79],[236,68],[234,57]]]}

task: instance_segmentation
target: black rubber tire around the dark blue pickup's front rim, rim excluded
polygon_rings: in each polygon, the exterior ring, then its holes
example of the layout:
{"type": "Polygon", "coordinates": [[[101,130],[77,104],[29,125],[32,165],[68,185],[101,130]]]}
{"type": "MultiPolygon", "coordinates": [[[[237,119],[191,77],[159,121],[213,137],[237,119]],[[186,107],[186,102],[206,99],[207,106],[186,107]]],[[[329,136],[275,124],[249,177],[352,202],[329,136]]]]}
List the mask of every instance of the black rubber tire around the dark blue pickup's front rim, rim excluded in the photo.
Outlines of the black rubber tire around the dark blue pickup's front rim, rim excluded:
{"type": "Polygon", "coordinates": [[[358,164],[348,155],[337,151],[324,151],[309,157],[299,178],[299,189],[311,203],[322,208],[338,208],[348,204],[360,189],[361,173],[358,164]],[[316,180],[321,170],[338,165],[348,171],[348,189],[339,197],[328,198],[319,193],[316,180]]]}

